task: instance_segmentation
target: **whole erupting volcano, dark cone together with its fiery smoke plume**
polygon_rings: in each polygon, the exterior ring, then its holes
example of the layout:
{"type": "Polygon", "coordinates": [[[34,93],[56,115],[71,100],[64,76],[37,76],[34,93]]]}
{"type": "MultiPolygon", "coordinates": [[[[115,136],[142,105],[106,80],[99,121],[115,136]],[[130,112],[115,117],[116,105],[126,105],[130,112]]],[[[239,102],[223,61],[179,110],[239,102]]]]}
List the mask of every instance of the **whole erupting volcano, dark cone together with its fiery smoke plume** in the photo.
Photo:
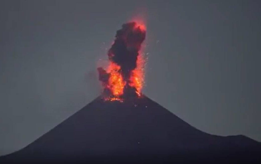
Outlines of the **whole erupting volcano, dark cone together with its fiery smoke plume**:
{"type": "Polygon", "coordinates": [[[141,95],[144,25],[122,25],[98,68],[104,91],[0,163],[260,163],[261,144],[200,131],[141,95]]]}

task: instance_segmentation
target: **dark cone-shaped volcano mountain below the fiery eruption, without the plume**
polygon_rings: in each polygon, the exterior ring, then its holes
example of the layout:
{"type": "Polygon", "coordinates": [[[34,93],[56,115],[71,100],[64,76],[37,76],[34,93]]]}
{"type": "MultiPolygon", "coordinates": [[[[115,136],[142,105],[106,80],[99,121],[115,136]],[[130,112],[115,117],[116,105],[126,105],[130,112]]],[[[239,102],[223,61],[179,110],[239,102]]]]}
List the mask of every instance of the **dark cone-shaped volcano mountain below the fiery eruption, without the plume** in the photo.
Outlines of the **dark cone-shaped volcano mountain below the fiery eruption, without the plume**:
{"type": "Polygon", "coordinates": [[[141,96],[96,98],[0,163],[259,163],[261,144],[204,133],[141,96]]]}

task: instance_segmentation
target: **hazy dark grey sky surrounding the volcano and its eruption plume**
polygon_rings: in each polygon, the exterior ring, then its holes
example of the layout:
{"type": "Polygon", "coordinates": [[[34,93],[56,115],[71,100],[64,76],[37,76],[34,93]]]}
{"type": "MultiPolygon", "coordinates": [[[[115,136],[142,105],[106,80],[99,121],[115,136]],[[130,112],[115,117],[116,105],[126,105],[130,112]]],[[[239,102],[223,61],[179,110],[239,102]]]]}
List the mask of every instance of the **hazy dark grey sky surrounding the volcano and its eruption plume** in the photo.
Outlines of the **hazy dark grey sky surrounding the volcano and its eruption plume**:
{"type": "Polygon", "coordinates": [[[116,30],[146,22],[143,93],[195,128],[261,141],[259,1],[0,1],[0,155],[100,95],[116,30]]]}

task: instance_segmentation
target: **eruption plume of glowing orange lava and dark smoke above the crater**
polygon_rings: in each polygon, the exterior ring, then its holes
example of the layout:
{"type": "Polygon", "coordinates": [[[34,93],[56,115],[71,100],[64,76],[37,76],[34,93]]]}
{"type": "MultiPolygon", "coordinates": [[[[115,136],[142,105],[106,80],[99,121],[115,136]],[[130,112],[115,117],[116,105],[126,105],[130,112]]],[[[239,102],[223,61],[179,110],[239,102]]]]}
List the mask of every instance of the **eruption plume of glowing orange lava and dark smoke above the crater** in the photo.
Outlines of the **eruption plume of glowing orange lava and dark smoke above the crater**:
{"type": "Polygon", "coordinates": [[[108,51],[110,64],[98,68],[105,100],[120,100],[141,95],[144,83],[144,58],[141,45],[145,40],[144,24],[130,22],[118,30],[108,51]]]}

